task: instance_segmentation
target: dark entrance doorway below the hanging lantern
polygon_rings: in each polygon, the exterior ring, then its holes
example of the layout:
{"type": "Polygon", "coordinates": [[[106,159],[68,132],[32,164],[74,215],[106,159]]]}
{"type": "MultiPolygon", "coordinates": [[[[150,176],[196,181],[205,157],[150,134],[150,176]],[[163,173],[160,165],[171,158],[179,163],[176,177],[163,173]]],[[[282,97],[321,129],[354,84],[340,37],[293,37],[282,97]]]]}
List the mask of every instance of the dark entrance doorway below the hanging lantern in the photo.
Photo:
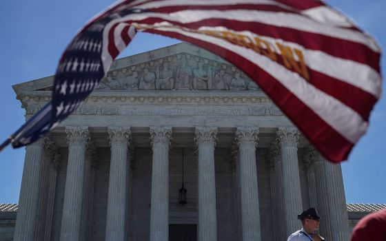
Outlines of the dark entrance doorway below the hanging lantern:
{"type": "Polygon", "coordinates": [[[169,241],[197,241],[197,225],[169,224],[169,241]]]}

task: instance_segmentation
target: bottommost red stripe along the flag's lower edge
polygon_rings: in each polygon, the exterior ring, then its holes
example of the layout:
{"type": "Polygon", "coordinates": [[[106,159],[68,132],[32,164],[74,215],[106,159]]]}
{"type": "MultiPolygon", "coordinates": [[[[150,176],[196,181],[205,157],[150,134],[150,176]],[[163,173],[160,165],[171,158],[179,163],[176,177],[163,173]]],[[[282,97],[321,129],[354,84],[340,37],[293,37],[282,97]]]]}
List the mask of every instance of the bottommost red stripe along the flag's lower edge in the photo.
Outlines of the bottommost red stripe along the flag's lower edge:
{"type": "Polygon", "coordinates": [[[261,67],[247,59],[219,47],[213,43],[207,43],[199,39],[194,39],[176,32],[165,32],[159,30],[146,30],[154,34],[170,36],[172,38],[181,39],[195,45],[199,45],[206,50],[218,54],[223,59],[237,65],[245,74],[250,77],[258,76],[256,83],[262,90],[272,98],[272,101],[281,108],[285,115],[303,132],[309,141],[323,154],[327,159],[334,163],[346,160],[349,151],[354,146],[348,140],[343,138],[341,134],[330,127],[323,119],[315,114],[312,109],[307,107],[294,94],[287,90],[281,83],[261,67]]]}

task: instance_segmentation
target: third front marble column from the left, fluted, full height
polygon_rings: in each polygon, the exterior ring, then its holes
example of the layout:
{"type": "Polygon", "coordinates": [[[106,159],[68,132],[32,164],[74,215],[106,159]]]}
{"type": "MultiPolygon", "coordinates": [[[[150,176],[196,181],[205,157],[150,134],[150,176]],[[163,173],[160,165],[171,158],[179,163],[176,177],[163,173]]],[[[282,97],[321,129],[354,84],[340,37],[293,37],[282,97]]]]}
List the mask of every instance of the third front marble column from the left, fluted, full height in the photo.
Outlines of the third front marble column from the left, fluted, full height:
{"type": "Polygon", "coordinates": [[[125,205],[130,127],[108,127],[111,145],[108,214],[105,240],[125,238],[125,205]]]}

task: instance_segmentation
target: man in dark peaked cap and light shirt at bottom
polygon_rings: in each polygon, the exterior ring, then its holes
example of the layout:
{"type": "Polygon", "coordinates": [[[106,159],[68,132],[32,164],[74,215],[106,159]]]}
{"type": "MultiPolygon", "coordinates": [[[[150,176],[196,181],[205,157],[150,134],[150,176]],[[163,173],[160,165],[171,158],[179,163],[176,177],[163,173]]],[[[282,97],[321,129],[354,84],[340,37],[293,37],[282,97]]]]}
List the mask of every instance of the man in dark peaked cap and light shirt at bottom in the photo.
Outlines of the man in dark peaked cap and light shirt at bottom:
{"type": "Polygon", "coordinates": [[[298,219],[302,222],[302,229],[292,233],[288,237],[287,241],[314,241],[314,240],[325,240],[320,235],[316,234],[315,231],[319,229],[321,223],[318,213],[312,207],[303,211],[298,215],[298,219]]]}

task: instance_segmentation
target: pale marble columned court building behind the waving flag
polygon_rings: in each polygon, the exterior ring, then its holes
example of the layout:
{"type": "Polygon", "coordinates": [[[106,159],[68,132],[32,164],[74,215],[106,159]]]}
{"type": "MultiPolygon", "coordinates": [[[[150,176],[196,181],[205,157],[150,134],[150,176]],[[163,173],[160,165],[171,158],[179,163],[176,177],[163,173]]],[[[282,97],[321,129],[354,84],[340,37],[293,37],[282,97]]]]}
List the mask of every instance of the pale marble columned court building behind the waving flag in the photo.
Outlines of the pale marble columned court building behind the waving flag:
{"type": "MultiPolygon", "coordinates": [[[[26,118],[52,85],[14,85],[26,118]]],[[[26,147],[14,240],[278,241],[309,207],[327,240],[349,240],[341,165],[243,72],[179,43],[114,61],[72,116],[26,147]]]]}

